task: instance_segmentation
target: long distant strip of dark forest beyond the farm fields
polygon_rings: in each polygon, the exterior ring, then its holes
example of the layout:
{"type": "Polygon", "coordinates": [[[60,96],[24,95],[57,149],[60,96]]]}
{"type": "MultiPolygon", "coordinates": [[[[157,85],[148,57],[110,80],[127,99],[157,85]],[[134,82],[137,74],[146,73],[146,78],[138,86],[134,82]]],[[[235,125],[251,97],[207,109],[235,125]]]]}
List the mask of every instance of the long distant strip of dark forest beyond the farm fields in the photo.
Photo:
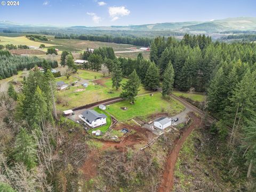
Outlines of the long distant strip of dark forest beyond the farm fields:
{"type": "Polygon", "coordinates": [[[111,35],[63,35],[55,36],[55,38],[64,38],[64,39],[81,39],[89,41],[99,41],[99,42],[109,42],[109,43],[119,43],[119,44],[130,44],[138,46],[150,46],[152,41],[148,37],[125,37],[125,36],[111,36],[111,35]]]}

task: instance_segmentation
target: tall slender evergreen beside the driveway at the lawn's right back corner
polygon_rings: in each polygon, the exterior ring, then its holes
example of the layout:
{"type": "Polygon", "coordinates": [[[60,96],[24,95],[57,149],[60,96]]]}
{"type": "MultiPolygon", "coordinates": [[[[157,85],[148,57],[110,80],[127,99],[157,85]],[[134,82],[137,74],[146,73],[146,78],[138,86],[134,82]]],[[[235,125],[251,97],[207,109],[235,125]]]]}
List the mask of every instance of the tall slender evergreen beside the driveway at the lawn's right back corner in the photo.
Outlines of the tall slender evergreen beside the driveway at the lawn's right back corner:
{"type": "Polygon", "coordinates": [[[174,69],[170,61],[163,74],[162,95],[164,98],[167,97],[168,99],[170,99],[170,94],[173,90],[173,83],[174,83],[174,69]]]}

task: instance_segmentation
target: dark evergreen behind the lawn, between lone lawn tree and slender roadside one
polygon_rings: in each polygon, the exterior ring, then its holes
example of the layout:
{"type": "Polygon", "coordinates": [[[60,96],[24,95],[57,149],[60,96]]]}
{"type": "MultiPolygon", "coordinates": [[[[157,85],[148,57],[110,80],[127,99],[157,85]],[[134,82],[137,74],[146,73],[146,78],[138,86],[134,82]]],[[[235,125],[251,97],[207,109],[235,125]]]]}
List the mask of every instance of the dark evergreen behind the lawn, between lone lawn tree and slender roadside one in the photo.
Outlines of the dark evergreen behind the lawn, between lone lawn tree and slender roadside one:
{"type": "Polygon", "coordinates": [[[157,90],[159,86],[159,72],[154,62],[152,62],[148,67],[148,70],[145,76],[144,86],[149,91],[157,90]]]}

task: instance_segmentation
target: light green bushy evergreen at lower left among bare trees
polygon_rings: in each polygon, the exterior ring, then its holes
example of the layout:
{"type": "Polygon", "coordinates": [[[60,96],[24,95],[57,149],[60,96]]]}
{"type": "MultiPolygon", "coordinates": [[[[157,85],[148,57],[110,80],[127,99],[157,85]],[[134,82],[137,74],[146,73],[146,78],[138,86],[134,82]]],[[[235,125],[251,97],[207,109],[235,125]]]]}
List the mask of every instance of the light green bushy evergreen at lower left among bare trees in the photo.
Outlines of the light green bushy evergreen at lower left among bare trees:
{"type": "Polygon", "coordinates": [[[17,135],[15,140],[14,147],[14,158],[17,162],[23,162],[28,169],[31,169],[36,166],[37,156],[36,156],[36,144],[26,131],[26,129],[20,129],[20,132],[17,135]]]}

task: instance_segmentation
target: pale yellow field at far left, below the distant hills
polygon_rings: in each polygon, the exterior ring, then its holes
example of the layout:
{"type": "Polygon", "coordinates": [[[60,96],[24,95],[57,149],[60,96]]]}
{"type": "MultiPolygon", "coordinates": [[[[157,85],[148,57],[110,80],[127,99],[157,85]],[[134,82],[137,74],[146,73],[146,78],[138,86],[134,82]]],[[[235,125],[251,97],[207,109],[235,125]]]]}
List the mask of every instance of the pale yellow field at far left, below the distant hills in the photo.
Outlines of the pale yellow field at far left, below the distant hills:
{"type": "MultiPolygon", "coordinates": [[[[27,46],[37,46],[39,47],[42,43],[31,41],[25,36],[20,37],[4,37],[0,36],[0,45],[13,44],[13,45],[27,45],[27,46]]],[[[53,44],[44,43],[45,46],[53,46],[53,44]]]]}

